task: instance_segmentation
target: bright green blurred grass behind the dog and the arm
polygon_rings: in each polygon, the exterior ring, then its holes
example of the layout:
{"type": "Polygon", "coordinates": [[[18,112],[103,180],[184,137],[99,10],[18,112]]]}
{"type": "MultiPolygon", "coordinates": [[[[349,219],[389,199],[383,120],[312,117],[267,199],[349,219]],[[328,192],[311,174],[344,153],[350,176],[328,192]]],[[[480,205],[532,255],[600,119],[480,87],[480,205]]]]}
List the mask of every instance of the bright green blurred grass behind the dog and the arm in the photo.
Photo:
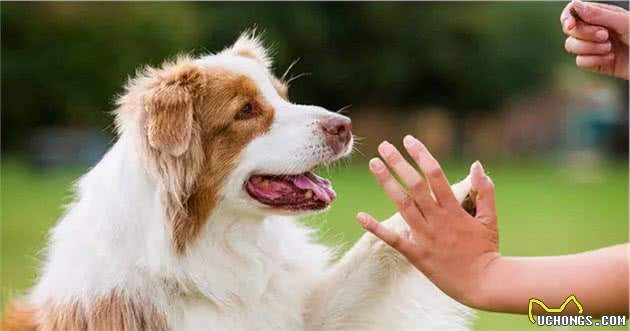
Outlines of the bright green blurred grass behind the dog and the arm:
{"type": "MultiPolygon", "coordinates": [[[[453,180],[467,173],[467,166],[461,163],[444,164],[453,180]]],[[[495,161],[484,165],[497,189],[502,254],[567,254],[628,241],[627,162],[581,170],[546,161],[495,161]]],[[[33,283],[47,230],[71,201],[72,183],[81,172],[41,172],[16,158],[3,158],[2,307],[8,298],[23,293],[33,283]]],[[[307,221],[321,228],[323,241],[346,245],[355,241],[362,234],[354,220],[360,210],[380,219],[394,212],[362,162],[324,174],[332,179],[338,199],[329,212],[307,221]]],[[[485,312],[479,313],[475,324],[476,330],[537,328],[525,316],[485,312]]]]}

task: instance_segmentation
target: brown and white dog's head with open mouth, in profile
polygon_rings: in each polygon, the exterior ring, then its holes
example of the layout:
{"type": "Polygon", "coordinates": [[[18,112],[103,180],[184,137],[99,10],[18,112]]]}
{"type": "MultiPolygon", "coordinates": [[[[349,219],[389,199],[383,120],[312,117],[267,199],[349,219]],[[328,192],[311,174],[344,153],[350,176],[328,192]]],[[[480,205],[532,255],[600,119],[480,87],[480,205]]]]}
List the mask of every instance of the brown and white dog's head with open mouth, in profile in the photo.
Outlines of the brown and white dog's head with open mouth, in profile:
{"type": "Polygon", "coordinates": [[[212,211],[300,214],[325,209],[330,182],[312,170],[347,155],[350,120],[291,103],[259,39],[147,68],[120,98],[117,124],[135,132],[160,183],[178,250],[212,211]]]}

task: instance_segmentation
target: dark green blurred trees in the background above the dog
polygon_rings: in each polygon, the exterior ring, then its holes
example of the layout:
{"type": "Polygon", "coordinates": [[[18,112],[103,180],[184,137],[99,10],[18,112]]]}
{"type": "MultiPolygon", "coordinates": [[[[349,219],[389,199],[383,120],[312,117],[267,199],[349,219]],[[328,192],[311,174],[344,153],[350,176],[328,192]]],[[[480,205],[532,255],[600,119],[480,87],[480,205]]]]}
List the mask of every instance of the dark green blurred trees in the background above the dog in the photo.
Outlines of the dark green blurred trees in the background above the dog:
{"type": "Polygon", "coordinates": [[[218,51],[258,26],[292,98],[336,109],[493,111],[565,59],[562,3],[3,3],[2,141],[44,125],[104,126],[127,76],[218,51]],[[358,107],[357,107],[358,108],[358,107]]]}

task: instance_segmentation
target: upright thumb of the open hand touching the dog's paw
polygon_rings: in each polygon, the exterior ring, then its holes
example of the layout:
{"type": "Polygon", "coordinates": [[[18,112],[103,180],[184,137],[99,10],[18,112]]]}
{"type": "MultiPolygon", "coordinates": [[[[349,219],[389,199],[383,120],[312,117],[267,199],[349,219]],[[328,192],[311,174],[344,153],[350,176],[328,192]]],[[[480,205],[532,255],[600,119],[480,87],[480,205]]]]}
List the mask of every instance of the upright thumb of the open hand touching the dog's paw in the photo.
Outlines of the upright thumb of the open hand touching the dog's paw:
{"type": "Polygon", "coordinates": [[[476,218],[486,225],[496,226],[497,212],[494,200],[494,184],[479,161],[470,167],[472,188],[477,192],[476,218]]]}

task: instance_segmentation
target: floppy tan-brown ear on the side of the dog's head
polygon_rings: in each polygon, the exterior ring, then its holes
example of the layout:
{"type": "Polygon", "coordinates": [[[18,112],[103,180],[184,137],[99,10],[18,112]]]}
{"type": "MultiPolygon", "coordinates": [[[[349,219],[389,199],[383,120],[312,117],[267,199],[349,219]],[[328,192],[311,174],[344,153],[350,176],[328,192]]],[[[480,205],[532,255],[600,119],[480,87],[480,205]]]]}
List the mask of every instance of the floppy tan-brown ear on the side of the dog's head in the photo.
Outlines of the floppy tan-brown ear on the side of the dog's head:
{"type": "Polygon", "coordinates": [[[149,144],[178,157],[190,147],[195,102],[205,84],[205,74],[190,61],[180,60],[154,70],[153,75],[155,83],[144,97],[149,144]]]}

